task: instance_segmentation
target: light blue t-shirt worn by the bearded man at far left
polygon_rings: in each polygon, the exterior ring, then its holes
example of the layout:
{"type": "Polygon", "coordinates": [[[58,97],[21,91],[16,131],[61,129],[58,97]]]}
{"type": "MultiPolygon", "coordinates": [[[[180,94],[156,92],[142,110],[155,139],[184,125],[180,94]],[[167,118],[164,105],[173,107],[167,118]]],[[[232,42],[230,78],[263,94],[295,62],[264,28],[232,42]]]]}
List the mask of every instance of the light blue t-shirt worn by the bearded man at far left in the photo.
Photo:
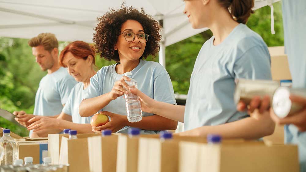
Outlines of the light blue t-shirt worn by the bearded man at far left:
{"type": "MultiPolygon", "coordinates": [[[[33,115],[54,116],[60,114],[63,104],[66,103],[75,84],[76,80],[63,67],[44,76],[40,80],[36,92],[33,115]]],[[[32,131],[30,131],[31,134],[32,131]]]]}

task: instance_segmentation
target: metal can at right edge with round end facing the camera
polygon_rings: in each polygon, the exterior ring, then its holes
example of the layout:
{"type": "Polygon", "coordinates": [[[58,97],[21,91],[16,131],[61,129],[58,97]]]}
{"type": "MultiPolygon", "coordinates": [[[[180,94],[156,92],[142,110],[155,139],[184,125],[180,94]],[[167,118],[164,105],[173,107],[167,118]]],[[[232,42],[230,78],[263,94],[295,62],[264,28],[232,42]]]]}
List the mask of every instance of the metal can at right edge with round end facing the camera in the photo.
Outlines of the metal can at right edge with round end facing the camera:
{"type": "Polygon", "coordinates": [[[303,105],[290,100],[290,95],[297,95],[306,98],[306,89],[279,87],[272,99],[272,108],[279,118],[290,116],[303,108],[303,105]]]}

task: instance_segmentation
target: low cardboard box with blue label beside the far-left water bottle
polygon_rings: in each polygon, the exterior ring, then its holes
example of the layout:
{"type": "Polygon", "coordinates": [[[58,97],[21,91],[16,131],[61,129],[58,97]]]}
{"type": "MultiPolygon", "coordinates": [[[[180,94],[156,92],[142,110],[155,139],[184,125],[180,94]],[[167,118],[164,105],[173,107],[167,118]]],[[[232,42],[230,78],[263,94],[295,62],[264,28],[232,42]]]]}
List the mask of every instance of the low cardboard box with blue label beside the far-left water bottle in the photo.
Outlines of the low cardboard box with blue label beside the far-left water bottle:
{"type": "Polygon", "coordinates": [[[17,141],[18,159],[32,156],[33,164],[43,163],[48,156],[48,141],[17,141]]]}

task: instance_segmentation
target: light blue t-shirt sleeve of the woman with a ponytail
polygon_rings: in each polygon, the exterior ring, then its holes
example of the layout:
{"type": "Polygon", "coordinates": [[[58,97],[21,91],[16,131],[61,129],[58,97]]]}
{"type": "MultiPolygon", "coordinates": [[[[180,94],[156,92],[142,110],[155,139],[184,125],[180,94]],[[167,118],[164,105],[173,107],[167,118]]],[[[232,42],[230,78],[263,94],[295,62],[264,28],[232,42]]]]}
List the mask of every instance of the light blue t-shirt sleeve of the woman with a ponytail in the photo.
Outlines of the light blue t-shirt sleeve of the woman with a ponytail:
{"type": "Polygon", "coordinates": [[[266,46],[248,49],[234,64],[235,78],[272,79],[270,54],[266,46]]]}

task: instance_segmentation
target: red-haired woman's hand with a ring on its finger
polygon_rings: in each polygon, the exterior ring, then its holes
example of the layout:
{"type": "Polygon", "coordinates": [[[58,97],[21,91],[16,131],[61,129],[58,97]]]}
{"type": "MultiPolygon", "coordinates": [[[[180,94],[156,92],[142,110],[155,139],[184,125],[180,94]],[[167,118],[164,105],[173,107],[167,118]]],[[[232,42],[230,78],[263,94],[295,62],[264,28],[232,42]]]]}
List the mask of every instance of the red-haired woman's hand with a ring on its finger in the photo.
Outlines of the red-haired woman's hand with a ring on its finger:
{"type": "Polygon", "coordinates": [[[27,127],[28,130],[34,130],[34,132],[43,129],[58,129],[59,119],[50,118],[47,116],[35,116],[28,120],[28,123],[32,123],[27,127]]]}

